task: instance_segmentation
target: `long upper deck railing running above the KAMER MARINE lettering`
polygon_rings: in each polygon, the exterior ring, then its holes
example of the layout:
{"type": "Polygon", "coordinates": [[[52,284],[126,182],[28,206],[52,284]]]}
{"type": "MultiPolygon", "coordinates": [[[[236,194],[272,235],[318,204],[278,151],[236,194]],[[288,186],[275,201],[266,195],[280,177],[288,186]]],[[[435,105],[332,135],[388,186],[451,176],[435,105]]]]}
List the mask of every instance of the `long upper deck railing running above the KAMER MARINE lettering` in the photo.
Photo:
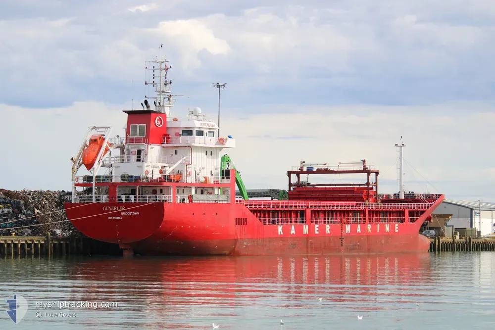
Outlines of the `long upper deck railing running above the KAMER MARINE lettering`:
{"type": "Polygon", "coordinates": [[[243,200],[236,203],[246,205],[249,209],[323,209],[323,210],[418,210],[425,211],[433,203],[359,203],[359,202],[306,202],[282,200],[243,200]]]}

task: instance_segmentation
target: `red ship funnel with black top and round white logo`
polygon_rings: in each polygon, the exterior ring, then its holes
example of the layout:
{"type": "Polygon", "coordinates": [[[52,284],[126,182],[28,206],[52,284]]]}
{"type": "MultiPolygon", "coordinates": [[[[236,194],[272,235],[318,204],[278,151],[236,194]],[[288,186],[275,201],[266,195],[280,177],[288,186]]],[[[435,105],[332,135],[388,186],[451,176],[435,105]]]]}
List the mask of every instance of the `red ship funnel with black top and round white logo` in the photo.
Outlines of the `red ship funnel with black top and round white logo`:
{"type": "Polygon", "coordinates": [[[131,110],[127,113],[127,143],[161,144],[167,133],[167,115],[153,110],[131,110]],[[146,137],[131,137],[131,125],[145,124],[146,137]]]}

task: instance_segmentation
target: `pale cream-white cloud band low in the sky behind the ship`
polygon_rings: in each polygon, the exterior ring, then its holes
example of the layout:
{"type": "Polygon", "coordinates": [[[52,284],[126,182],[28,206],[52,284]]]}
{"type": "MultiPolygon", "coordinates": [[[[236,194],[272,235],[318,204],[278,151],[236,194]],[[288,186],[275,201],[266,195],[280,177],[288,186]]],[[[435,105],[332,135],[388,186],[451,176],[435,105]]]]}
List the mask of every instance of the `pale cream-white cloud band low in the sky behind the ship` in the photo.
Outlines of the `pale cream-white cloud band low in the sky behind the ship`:
{"type": "MultiPolygon", "coordinates": [[[[381,191],[394,192],[394,144],[402,135],[407,190],[490,201],[495,183],[490,164],[495,159],[485,145],[491,141],[495,125],[495,114],[487,112],[493,105],[439,104],[423,112],[407,106],[382,107],[380,111],[369,106],[328,106],[324,111],[319,108],[305,114],[253,113],[242,120],[226,113],[222,135],[232,135],[236,148],[224,152],[236,163],[248,189],[284,189],[286,171],[302,160],[337,165],[366,159],[381,171],[381,191]],[[446,113],[446,108],[455,106],[466,111],[446,113]]],[[[120,110],[129,108],[130,104],[101,102],[42,110],[1,104],[0,116],[10,118],[2,128],[4,136],[16,137],[15,143],[5,144],[3,152],[9,159],[28,160],[16,162],[15,169],[11,162],[0,164],[2,188],[68,189],[69,158],[76,153],[87,128],[112,125],[112,136],[122,135],[126,115],[120,110]],[[34,170],[36,175],[31,175],[34,170]]],[[[348,179],[343,175],[330,180],[348,179]]]]}

